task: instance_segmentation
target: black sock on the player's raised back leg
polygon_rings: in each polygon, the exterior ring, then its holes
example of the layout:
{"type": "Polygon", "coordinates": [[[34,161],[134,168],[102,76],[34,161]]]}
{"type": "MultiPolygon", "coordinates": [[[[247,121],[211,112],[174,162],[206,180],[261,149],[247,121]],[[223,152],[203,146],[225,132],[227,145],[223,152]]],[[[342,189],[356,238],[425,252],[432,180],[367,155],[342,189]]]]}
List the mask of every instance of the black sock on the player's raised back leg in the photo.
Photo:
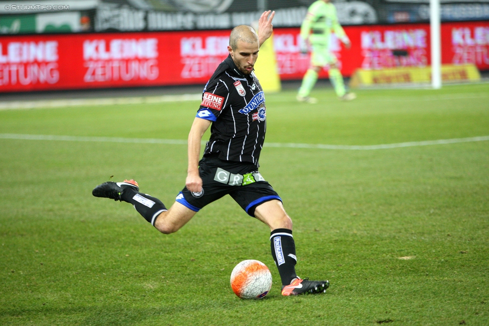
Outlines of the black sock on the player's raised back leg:
{"type": "Polygon", "coordinates": [[[156,221],[156,217],[161,212],[168,210],[158,198],[143,194],[130,187],[122,191],[121,199],[132,204],[138,213],[141,214],[144,219],[150,222],[153,226],[154,222],[156,221]]]}

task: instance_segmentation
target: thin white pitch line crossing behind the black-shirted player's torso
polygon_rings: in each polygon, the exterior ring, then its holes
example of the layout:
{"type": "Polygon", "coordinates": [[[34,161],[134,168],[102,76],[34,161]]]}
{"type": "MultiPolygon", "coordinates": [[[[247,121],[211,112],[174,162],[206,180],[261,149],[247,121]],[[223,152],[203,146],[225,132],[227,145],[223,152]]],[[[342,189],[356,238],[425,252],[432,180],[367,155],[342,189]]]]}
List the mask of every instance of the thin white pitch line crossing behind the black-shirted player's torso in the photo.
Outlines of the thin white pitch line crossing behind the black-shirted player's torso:
{"type": "MultiPolygon", "coordinates": [[[[111,142],[111,143],[138,143],[138,144],[170,144],[185,145],[182,139],[159,139],[159,138],[118,138],[118,137],[80,137],[80,136],[55,136],[55,135],[26,135],[26,134],[0,134],[0,139],[23,139],[23,140],[57,140],[76,142],[111,142]]],[[[310,149],[337,149],[337,150],[375,150],[412,146],[442,145],[467,142],[489,141],[489,136],[452,138],[426,140],[421,142],[406,142],[381,145],[326,145],[326,144],[299,144],[299,143],[265,143],[266,147],[279,148],[310,148],[310,149]]],[[[205,144],[205,141],[202,141],[205,144]]]]}

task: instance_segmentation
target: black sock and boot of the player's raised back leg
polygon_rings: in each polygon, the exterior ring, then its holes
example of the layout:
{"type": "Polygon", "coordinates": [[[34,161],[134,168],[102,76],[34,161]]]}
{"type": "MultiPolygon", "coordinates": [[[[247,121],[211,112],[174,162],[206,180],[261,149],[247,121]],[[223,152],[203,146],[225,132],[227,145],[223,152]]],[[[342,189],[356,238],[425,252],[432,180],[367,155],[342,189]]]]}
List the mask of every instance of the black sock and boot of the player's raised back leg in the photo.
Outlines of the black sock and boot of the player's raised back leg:
{"type": "Polygon", "coordinates": [[[153,226],[156,217],[161,212],[167,211],[158,198],[139,192],[137,182],[132,179],[124,180],[124,182],[104,182],[96,186],[92,194],[95,197],[110,198],[132,204],[139,214],[153,226]]]}

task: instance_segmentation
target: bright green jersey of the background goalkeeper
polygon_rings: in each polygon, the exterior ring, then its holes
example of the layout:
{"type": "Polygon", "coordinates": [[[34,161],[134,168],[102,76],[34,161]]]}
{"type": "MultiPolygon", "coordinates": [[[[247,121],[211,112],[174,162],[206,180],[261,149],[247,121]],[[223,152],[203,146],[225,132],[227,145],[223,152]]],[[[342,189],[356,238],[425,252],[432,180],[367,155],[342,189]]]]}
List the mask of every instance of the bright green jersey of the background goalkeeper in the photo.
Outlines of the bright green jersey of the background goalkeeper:
{"type": "Polygon", "coordinates": [[[335,6],[318,0],[307,11],[301,26],[301,37],[303,40],[309,38],[311,44],[321,44],[329,48],[331,32],[334,32],[338,39],[344,39],[346,36],[338,23],[335,6]]]}

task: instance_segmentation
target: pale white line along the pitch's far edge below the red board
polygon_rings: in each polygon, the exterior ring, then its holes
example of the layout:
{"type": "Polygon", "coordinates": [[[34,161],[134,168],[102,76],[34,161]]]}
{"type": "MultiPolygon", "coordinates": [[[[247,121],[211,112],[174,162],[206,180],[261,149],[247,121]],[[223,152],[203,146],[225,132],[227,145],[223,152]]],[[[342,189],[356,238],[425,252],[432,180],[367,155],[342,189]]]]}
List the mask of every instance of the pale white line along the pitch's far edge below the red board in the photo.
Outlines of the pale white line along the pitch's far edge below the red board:
{"type": "Polygon", "coordinates": [[[200,101],[202,94],[113,97],[100,99],[66,99],[66,100],[37,100],[37,101],[5,101],[0,102],[0,110],[65,108],[74,106],[96,106],[116,104],[155,104],[163,102],[200,101]]]}

